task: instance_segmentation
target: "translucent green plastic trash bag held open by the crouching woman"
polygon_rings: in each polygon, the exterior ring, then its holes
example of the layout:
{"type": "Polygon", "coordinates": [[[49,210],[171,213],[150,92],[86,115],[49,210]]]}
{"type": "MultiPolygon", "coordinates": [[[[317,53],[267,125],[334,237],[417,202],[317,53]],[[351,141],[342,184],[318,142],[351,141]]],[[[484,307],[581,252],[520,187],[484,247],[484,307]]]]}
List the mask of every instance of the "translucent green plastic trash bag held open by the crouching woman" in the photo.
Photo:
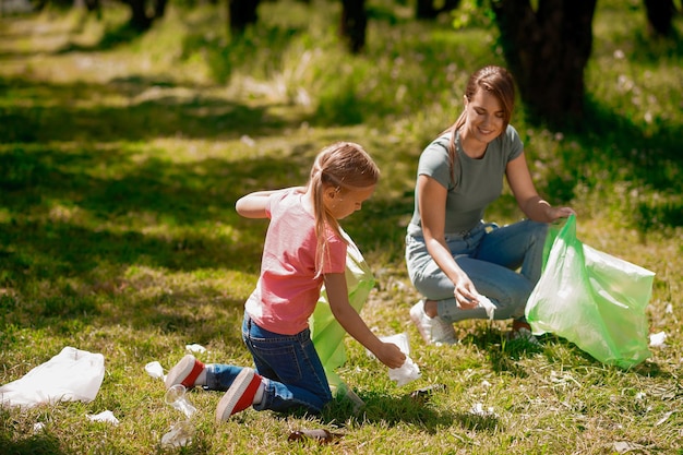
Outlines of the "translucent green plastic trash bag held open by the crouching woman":
{"type": "Polygon", "coordinates": [[[535,335],[553,333],[603,363],[634,367],[650,357],[645,309],[654,277],[583,244],[572,215],[548,252],[527,301],[527,321],[535,335]]]}

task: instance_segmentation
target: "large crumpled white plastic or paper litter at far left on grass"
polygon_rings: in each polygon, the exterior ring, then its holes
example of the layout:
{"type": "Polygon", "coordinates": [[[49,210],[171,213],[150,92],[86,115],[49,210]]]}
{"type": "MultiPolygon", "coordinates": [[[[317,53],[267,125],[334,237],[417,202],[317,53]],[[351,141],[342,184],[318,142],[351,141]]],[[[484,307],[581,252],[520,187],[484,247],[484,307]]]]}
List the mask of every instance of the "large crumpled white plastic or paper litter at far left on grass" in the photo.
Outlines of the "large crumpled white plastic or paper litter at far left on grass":
{"type": "Polygon", "coordinates": [[[33,407],[43,403],[95,399],[105,379],[105,357],[67,346],[23,378],[0,387],[0,404],[33,407]]]}

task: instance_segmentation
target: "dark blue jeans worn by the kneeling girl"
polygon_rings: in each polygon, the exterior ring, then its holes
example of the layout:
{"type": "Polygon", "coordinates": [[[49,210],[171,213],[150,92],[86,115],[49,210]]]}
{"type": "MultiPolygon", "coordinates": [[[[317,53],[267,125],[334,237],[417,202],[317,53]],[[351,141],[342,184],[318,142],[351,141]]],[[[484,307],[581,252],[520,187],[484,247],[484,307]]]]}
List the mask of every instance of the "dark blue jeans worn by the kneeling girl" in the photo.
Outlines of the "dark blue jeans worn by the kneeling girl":
{"type": "MultiPolygon", "coordinates": [[[[320,412],[332,400],[325,370],[307,328],[296,335],[280,335],[259,327],[244,313],[242,339],[256,372],[266,379],[265,392],[256,410],[285,411],[304,407],[320,412]]],[[[227,391],[241,367],[214,364],[206,374],[211,390],[227,391]]]]}

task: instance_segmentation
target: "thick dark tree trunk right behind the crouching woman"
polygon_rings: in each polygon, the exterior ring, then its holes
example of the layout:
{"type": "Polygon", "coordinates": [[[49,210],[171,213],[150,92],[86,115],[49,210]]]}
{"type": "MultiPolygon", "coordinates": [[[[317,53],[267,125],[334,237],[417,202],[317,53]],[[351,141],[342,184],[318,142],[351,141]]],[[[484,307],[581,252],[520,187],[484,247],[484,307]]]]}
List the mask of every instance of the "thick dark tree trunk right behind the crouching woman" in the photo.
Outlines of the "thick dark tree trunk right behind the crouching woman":
{"type": "Polygon", "coordinates": [[[597,0],[493,2],[505,59],[530,110],[551,122],[579,118],[597,0]]]}

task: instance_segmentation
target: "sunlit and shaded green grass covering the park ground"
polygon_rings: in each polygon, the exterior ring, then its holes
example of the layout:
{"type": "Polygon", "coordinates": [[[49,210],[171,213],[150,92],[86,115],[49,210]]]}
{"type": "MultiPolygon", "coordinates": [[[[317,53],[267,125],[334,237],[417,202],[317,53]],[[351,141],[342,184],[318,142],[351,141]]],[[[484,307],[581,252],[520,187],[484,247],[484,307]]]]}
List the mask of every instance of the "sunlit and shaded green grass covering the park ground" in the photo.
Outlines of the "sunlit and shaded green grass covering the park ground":
{"type": "MultiPolygon", "coordinates": [[[[459,112],[469,72],[504,64],[471,10],[454,31],[371,1],[361,56],[337,41],[327,2],[266,2],[241,38],[224,8],[171,8],[145,35],[111,5],[100,22],[1,17],[0,384],[64,346],[101,352],[106,375],[92,403],[0,409],[0,453],[682,454],[681,41],[650,39],[638,1],[598,3],[586,121],[551,130],[520,106],[513,123],[539,191],[578,212],[579,238],[657,274],[647,318],[668,347],[628,371],[553,335],[540,349],[507,343],[506,322],[458,324],[455,347],[426,346],[409,323],[417,158],[459,112]],[[160,448],[181,415],[147,362],[169,368],[199,343],[204,361],[251,363],[239,327],[265,224],[238,217],[235,201],[302,184],[336,140],[363,144],[383,172],[344,225],[378,279],[362,315],[379,335],[409,334],[422,378],[397,387],[347,337],[339,374],[361,412],[342,400],[316,418],[248,410],[215,426],[219,394],[197,391],[193,444],[160,448]],[[433,383],[447,392],[409,398],[433,383]],[[477,404],[493,412],[471,414],[477,404]],[[85,417],[106,409],[118,427],[85,417]],[[343,438],[288,442],[301,428],[343,438]]],[[[505,193],[488,217],[520,213],[505,193]]]]}

